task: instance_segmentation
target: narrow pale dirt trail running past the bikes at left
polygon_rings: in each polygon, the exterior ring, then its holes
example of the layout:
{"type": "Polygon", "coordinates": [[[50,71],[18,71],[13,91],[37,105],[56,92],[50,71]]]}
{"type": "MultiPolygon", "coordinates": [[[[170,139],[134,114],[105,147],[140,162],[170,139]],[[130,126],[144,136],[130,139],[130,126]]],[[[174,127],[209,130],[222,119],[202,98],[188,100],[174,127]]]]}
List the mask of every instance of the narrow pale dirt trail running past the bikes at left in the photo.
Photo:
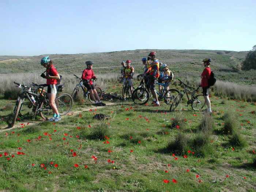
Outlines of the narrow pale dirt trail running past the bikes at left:
{"type": "MultiPolygon", "coordinates": [[[[120,103],[115,103],[115,102],[112,102],[112,103],[106,103],[106,106],[110,106],[110,105],[119,105],[120,103]]],[[[69,112],[70,114],[79,114],[81,112],[84,112],[84,111],[88,111],[90,109],[94,110],[94,109],[101,109],[101,108],[104,108],[106,106],[90,106],[90,107],[85,107],[85,108],[82,108],[80,110],[72,110],[75,108],[75,106],[72,107],[71,109],[71,112],[69,112]]],[[[68,115],[64,115],[64,116],[61,116],[61,118],[67,118],[68,115]]],[[[18,118],[20,118],[18,116],[18,118]]],[[[13,127],[9,127],[7,125],[5,125],[4,127],[0,127],[0,132],[3,132],[3,131],[9,131],[11,129],[15,129],[15,128],[18,128],[18,127],[24,127],[24,126],[27,126],[27,125],[35,125],[35,124],[38,124],[38,123],[41,123],[45,120],[35,120],[35,121],[31,121],[31,120],[22,120],[22,121],[19,121],[19,122],[15,122],[14,126],[13,127]]]]}

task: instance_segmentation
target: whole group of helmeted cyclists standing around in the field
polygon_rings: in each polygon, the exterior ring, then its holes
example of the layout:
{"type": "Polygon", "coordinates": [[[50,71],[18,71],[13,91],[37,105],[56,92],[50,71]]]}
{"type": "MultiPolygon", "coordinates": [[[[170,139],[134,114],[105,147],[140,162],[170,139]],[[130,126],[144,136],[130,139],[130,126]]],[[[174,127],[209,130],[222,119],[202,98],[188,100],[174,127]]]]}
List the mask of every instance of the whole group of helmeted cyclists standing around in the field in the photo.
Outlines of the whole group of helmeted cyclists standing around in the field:
{"type": "MultiPolygon", "coordinates": [[[[158,82],[168,82],[165,90],[169,90],[170,81],[173,80],[173,73],[170,71],[170,69],[167,67],[166,64],[159,63],[159,60],[155,57],[156,52],[150,52],[148,54],[148,57],[142,58],[142,63],[144,65],[144,72],[142,74],[139,74],[138,76],[144,76],[145,82],[147,84],[147,89],[149,89],[153,96],[153,102],[151,103],[151,106],[160,106],[160,103],[158,101],[157,93],[155,91],[155,84],[158,78],[158,82]],[[171,78],[170,78],[171,77],[171,78]]],[[[211,112],[211,102],[209,99],[209,88],[208,86],[208,79],[210,78],[211,69],[210,69],[210,63],[211,59],[207,58],[203,60],[204,65],[204,71],[201,74],[201,84],[203,88],[203,95],[204,100],[207,105],[206,112],[211,112]]],[[[87,88],[88,91],[90,91],[90,96],[94,100],[96,106],[105,106],[106,104],[101,102],[100,98],[98,97],[97,91],[95,90],[95,87],[93,85],[93,82],[91,79],[97,79],[97,77],[94,75],[93,72],[93,62],[92,61],[86,61],[85,64],[87,65],[87,68],[83,70],[82,73],[82,80],[84,86],[87,88]],[[94,97],[95,95],[95,97],[94,97]]],[[[46,75],[44,73],[41,74],[42,78],[46,79],[46,84],[48,86],[47,94],[49,98],[49,105],[52,107],[53,110],[53,117],[48,118],[49,121],[59,121],[61,120],[60,114],[58,112],[58,109],[55,105],[54,99],[57,94],[57,80],[60,79],[60,75],[58,74],[56,68],[54,67],[52,60],[50,60],[49,56],[45,56],[41,59],[41,65],[46,68],[46,75]]],[[[126,62],[121,63],[121,76],[120,78],[124,79],[128,82],[129,89],[132,93],[133,91],[133,84],[132,79],[134,75],[134,68],[131,67],[131,60],[127,60],[126,62]],[[126,64],[126,65],[125,65],[126,64]]],[[[160,85],[158,87],[160,92],[160,85]]]]}

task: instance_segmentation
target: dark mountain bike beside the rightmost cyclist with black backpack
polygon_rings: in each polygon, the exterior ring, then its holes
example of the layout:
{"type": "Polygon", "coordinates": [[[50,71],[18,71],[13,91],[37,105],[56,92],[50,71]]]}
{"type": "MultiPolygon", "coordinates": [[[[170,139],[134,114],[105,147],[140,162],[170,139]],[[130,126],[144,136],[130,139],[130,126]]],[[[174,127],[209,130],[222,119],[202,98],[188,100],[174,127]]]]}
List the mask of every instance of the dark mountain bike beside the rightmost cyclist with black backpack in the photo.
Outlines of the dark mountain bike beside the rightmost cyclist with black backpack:
{"type": "Polygon", "coordinates": [[[170,111],[173,112],[177,108],[177,106],[181,103],[181,99],[184,94],[186,94],[187,98],[188,98],[187,104],[185,106],[188,106],[189,104],[191,104],[191,107],[193,110],[201,110],[205,105],[204,96],[203,96],[203,94],[195,95],[197,93],[199,87],[201,87],[201,85],[197,85],[198,87],[197,87],[197,89],[195,89],[195,88],[183,83],[180,79],[178,79],[178,80],[180,81],[180,84],[183,84],[185,87],[174,98],[174,100],[170,106],[170,111]],[[191,90],[195,90],[195,91],[191,91],[191,90]],[[189,94],[191,94],[191,98],[189,98],[189,94]]]}

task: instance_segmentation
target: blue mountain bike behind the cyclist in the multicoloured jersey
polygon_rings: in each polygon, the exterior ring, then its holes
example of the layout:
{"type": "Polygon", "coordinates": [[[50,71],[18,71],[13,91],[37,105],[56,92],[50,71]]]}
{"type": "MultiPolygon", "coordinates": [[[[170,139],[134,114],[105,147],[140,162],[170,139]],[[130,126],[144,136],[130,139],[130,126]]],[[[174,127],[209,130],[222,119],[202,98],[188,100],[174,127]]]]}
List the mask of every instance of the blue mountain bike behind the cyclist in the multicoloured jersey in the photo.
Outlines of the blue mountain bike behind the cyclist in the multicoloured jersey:
{"type": "MultiPolygon", "coordinates": [[[[168,76],[168,79],[170,78],[172,78],[172,76],[168,76]]],[[[155,92],[158,94],[159,99],[163,98],[165,103],[167,105],[170,105],[172,103],[172,100],[178,95],[179,91],[176,89],[165,90],[165,87],[167,87],[168,85],[167,81],[165,84],[156,82],[156,84],[162,85],[163,89],[161,90],[161,93],[158,93],[157,90],[155,90],[155,92]]],[[[146,104],[149,98],[150,98],[150,93],[147,90],[147,85],[138,87],[132,92],[132,101],[138,105],[146,104]]]]}

